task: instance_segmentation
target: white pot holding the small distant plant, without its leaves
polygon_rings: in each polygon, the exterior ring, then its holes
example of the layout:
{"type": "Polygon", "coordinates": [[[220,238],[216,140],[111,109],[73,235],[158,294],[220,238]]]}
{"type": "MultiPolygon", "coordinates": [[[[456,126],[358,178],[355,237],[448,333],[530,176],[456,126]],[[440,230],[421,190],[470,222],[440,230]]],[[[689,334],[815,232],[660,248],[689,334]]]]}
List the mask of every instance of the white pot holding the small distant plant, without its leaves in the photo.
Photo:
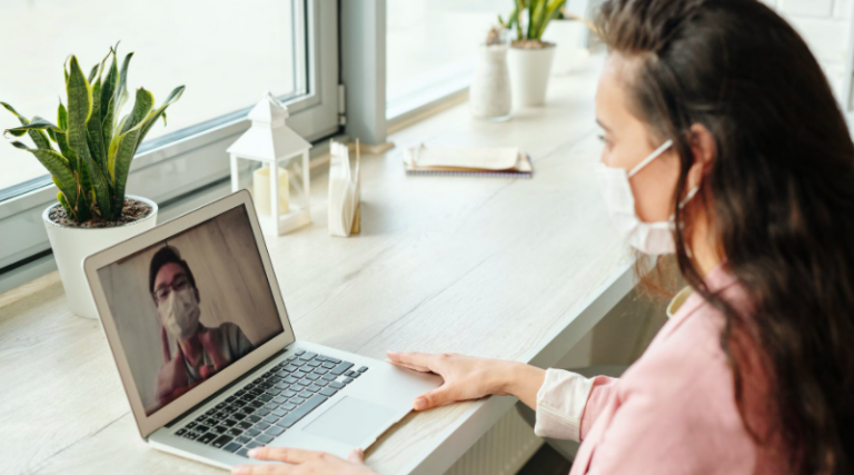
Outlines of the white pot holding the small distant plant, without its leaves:
{"type": "Polygon", "coordinates": [[[554,46],[537,49],[510,48],[507,62],[510,69],[514,106],[532,107],[546,103],[546,90],[554,57],[554,46]]]}

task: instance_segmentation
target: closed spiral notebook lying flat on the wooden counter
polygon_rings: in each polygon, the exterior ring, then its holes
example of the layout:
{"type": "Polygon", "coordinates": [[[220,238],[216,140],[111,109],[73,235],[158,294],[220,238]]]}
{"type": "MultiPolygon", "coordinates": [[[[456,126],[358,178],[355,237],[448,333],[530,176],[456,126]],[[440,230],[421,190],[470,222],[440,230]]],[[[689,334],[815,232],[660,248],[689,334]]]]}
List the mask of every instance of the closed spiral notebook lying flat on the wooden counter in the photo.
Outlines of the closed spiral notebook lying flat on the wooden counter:
{"type": "Polygon", "coordinates": [[[414,147],[404,151],[407,175],[532,178],[530,157],[516,147],[414,147]]]}

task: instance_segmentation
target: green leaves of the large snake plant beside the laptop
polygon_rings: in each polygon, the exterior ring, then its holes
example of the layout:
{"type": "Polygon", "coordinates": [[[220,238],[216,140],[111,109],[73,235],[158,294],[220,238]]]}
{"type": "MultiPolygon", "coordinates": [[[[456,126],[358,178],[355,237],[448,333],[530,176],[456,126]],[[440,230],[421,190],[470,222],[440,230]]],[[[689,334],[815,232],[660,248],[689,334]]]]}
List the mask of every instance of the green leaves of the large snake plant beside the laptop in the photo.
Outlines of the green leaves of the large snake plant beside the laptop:
{"type": "Polygon", "coordinates": [[[12,106],[0,102],[21,122],[21,127],[6,133],[28,135],[36,148],[20,141],[12,145],[34,155],[48,169],[59,188],[59,202],[77,222],[96,215],[109,221],[121,217],[128,170],[139,145],[159,118],[166,123],[166,109],[183,93],[180,86],[155,108],[151,92],[139,88],[130,112],[117,120],[129,98],[128,66],[132,56],[128,53],[119,69],[116,48],[110,48],[88,77],[77,58],[69,57],[63,66],[68,107],[60,100],[57,123],[38,116],[28,120],[12,106]]]}

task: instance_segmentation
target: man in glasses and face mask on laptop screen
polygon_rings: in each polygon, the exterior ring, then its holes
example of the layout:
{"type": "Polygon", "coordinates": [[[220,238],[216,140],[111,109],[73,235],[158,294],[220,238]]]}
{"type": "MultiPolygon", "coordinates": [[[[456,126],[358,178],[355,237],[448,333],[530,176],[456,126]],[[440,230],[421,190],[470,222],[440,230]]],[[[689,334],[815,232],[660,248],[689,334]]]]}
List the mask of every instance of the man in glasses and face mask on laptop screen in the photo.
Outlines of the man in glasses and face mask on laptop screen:
{"type": "Polygon", "coordinates": [[[157,400],[163,406],[252,350],[235,324],[208,328],[199,323],[199,289],[190,266],[172,246],[151,258],[149,290],[160,320],[163,365],[157,375],[157,400]],[[172,357],[169,337],[176,342],[172,357]]]}

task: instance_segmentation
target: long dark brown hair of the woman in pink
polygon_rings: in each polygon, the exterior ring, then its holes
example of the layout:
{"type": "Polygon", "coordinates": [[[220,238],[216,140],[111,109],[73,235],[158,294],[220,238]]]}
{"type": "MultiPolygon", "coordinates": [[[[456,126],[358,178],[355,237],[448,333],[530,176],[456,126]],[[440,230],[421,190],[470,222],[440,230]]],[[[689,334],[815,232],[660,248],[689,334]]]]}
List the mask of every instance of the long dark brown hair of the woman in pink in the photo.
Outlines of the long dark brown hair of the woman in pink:
{"type": "Polygon", "coordinates": [[[791,472],[854,473],[854,144],[818,63],[755,0],[608,0],[597,26],[610,51],[639,59],[627,80],[633,112],[679,156],[676,260],[726,317],[721,345],[745,427],[763,442],[745,414],[744,335],[769,375],[791,472]],[[716,154],[681,210],[695,123],[716,154]],[[749,315],[709,291],[686,250],[697,206],[749,315]]]}

